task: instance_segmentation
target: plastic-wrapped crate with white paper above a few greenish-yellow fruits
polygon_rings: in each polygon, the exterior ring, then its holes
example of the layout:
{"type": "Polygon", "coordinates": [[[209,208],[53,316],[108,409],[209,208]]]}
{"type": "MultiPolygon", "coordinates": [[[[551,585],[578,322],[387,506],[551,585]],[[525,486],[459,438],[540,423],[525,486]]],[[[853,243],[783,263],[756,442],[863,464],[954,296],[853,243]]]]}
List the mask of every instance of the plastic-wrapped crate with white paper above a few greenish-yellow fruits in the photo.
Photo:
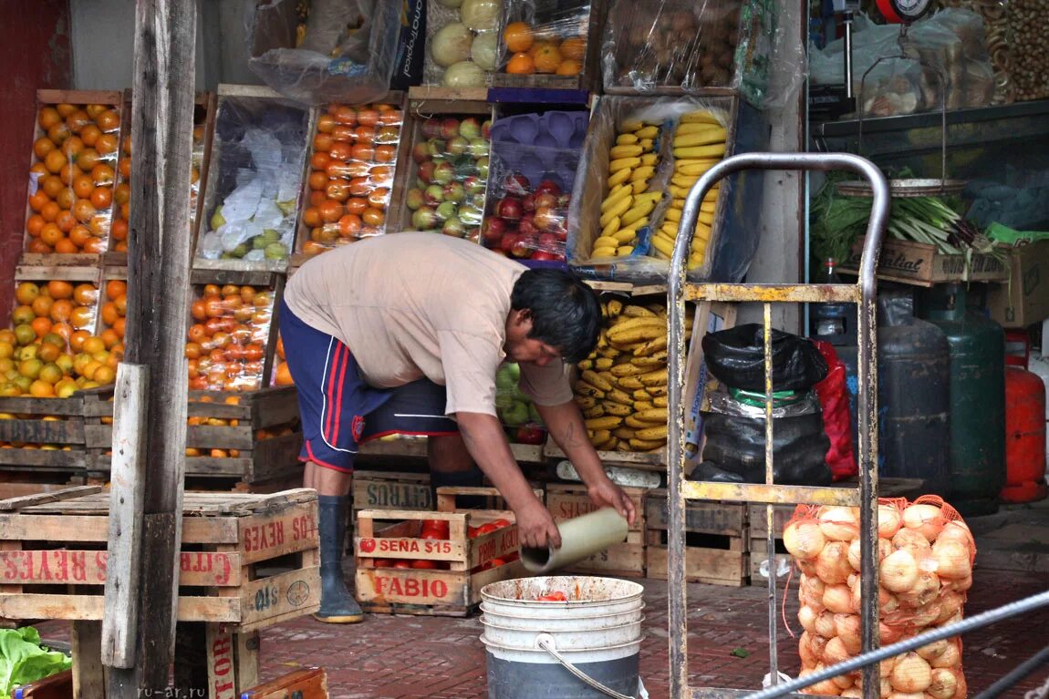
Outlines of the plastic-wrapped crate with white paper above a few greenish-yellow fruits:
{"type": "Polygon", "coordinates": [[[198,258],[286,264],[308,121],[284,100],[219,97],[198,258]]]}

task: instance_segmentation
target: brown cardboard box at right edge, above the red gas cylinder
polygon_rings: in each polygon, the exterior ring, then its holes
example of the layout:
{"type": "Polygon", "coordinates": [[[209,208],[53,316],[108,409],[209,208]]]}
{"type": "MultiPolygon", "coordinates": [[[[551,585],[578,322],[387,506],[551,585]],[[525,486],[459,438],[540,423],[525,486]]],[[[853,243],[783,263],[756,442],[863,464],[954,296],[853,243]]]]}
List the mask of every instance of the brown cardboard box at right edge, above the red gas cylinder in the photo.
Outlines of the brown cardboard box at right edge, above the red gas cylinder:
{"type": "Polygon", "coordinates": [[[987,290],[990,316],[1006,328],[1049,318],[1049,240],[1013,248],[1007,284],[987,290]]]}

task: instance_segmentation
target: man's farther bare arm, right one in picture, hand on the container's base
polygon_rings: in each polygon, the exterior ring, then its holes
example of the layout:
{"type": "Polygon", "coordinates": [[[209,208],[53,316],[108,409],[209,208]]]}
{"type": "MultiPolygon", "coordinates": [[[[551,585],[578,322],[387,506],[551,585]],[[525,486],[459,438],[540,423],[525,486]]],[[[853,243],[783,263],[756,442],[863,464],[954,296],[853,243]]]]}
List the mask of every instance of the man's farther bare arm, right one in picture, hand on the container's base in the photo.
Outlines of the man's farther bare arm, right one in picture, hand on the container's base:
{"type": "Polygon", "coordinates": [[[586,436],[586,425],[576,401],[569,400],[558,406],[536,403],[536,409],[542,417],[543,424],[550,430],[550,435],[586,484],[591,500],[598,505],[615,507],[616,511],[634,524],[634,519],[637,517],[634,502],[604,473],[601,459],[598,458],[597,451],[586,436]]]}

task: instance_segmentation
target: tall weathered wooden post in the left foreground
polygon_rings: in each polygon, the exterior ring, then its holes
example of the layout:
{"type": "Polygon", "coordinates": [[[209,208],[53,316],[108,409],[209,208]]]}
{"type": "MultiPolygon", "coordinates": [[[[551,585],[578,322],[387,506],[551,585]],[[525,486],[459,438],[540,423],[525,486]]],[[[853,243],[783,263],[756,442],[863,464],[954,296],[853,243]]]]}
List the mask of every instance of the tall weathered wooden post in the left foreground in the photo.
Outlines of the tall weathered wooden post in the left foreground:
{"type": "Polygon", "coordinates": [[[135,662],[109,671],[110,699],[164,696],[174,647],[186,459],[183,342],[190,261],[196,3],[137,0],[131,102],[131,221],[125,362],[149,367],[135,662]]]}

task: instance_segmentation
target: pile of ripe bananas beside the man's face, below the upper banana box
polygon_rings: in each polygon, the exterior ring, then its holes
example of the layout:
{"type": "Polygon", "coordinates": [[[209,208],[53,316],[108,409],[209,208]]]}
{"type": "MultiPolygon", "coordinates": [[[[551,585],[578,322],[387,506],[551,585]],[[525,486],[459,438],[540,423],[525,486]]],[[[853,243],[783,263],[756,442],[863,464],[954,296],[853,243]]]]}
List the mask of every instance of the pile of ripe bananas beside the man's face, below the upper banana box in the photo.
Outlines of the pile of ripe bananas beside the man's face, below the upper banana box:
{"type": "MultiPolygon", "coordinates": [[[[577,365],[576,403],[591,443],[602,451],[655,452],[666,444],[666,306],[601,303],[606,325],[577,365]]],[[[689,311],[691,314],[691,311],[689,311]]],[[[686,338],[691,319],[685,323],[686,338]]]]}

